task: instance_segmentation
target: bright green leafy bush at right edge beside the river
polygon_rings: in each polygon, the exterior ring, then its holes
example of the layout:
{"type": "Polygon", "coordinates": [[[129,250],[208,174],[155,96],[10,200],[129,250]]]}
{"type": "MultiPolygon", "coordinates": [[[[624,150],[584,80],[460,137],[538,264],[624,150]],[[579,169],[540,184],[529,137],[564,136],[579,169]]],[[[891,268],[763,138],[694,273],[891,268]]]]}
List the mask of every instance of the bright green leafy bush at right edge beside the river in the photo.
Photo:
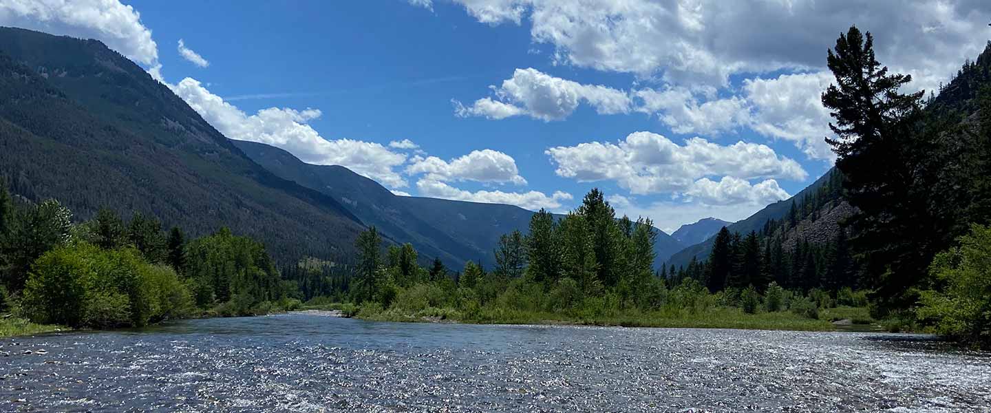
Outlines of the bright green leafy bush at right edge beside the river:
{"type": "Polygon", "coordinates": [[[930,270],[944,288],[922,293],[919,317],[939,334],[991,345],[991,228],[973,226],[930,270]]]}

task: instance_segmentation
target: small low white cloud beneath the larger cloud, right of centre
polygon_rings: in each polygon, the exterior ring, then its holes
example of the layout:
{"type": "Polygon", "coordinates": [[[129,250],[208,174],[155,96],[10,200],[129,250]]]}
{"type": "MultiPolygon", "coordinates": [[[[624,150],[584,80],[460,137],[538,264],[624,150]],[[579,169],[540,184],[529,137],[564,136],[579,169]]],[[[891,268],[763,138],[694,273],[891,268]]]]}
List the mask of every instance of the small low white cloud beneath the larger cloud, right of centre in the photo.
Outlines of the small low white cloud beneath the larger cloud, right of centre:
{"type": "Polygon", "coordinates": [[[751,185],[744,179],[732,176],[723,176],[718,182],[709,178],[699,179],[685,194],[707,205],[767,205],[791,196],[774,179],[751,185]]]}

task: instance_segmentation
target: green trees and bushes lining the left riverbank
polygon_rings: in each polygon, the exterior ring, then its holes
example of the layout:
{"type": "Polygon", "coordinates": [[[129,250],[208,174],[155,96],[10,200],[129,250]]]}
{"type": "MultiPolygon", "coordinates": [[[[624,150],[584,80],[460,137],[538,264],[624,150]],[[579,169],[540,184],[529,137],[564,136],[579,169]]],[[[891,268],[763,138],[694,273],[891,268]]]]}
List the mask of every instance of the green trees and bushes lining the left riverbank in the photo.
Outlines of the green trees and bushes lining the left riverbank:
{"type": "Polygon", "coordinates": [[[155,217],[110,209],[74,223],[58,201],[11,196],[0,179],[0,310],[76,328],[144,326],[291,305],[260,243],[227,229],[186,240],[155,217]]]}

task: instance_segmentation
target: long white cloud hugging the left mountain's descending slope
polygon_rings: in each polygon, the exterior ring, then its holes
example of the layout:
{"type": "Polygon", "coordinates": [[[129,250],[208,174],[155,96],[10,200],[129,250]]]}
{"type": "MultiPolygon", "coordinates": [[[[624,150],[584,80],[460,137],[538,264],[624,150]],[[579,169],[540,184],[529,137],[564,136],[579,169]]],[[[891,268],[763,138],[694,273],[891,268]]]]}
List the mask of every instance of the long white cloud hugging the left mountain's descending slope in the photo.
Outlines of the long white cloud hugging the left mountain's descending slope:
{"type": "Polygon", "coordinates": [[[230,139],[272,145],[307,163],[343,165],[390,187],[407,185],[405,179],[393,170],[393,167],[405,162],[406,155],[393,153],[376,143],[350,139],[325,140],[306,124],[320,117],[319,110],[268,108],[249,116],[220,96],[210,93],[196,79],[186,77],[170,87],[203,119],[230,139]]]}

